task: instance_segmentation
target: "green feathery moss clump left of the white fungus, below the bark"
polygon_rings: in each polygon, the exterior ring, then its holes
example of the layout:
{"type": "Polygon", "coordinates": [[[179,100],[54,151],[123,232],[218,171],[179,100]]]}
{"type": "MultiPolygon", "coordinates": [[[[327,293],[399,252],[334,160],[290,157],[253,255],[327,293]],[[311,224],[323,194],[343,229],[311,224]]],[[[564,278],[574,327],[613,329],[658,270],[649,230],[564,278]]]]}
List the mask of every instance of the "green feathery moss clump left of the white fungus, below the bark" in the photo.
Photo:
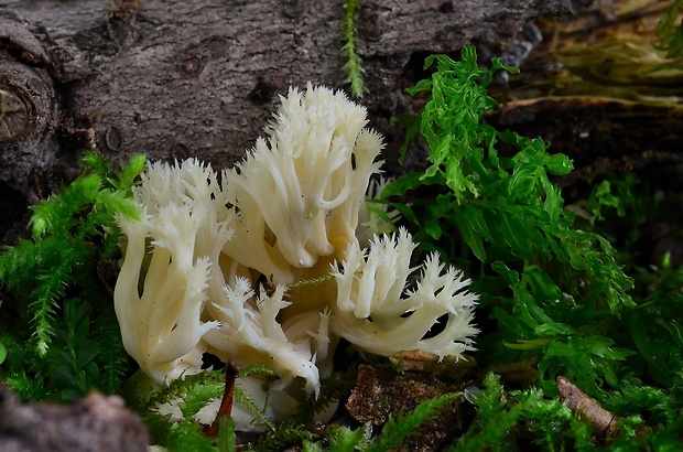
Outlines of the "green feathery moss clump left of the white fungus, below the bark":
{"type": "MultiPolygon", "coordinates": [[[[54,362],[36,373],[36,378],[44,379],[47,386],[43,391],[45,397],[62,395],[57,397],[71,399],[85,395],[93,387],[113,392],[120,389],[115,386],[122,383],[122,367],[127,363],[121,357],[122,346],[112,346],[116,344],[111,341],[120,337],[120,333],[112,334],[118,332],[118,322],[111,315],[110,295],[99,283],[95,270],[99,260],[117,251],[116,215],[140,216],[131,187],[144,170],[144,157],[133,158],[120,172],[111,170],[96,152],[87,154],[84,164],[84,173],[74,182],[31,207],[33,239],[20,240],[0,254],[0,286],[15,301],[19,322],[26,325],[12,330],[19,334],[17,340],[31,338],[39,359],[45,359],[56,334],[65,341],[78,338],[78,344],[63,344],[66,348],[51,355],[54,362]],[[69,306],[64,304],[67,293],[73,300],[69,306]],[[107,303],[109,315],[102,308],[107,303]],[[88,314],[87,319],[95,322],[96,330],[89,327],[89,320],[85,324],[82,316],[69,314],[85,312],[86,308],[95,308],[95,316],[88,314]],[[105,315],[99,318],[99,314],[105,315]],[[101,334],[102,331],[107,333],[101,334]],[[100,355],[105,348],[107,352],[100,355]],[[105,365],[99,358],[106,359],[109,369],[105,380],[94,377],[100,375],[98,369],[105,365]],[[118,366],[109,367],[115,363],[118,366]],[[117,374],[119,377],[115,377],[117,374]],[[99,386],[102,383],[105,387],[99,386]]],[[[35,366],[29,367],[35,369],[35,366]]],[[[8,379],[12,378],[12,373],[8,370],[8,379]]],[[[22,388],[14,389],[25,394],[22,388]]]]}

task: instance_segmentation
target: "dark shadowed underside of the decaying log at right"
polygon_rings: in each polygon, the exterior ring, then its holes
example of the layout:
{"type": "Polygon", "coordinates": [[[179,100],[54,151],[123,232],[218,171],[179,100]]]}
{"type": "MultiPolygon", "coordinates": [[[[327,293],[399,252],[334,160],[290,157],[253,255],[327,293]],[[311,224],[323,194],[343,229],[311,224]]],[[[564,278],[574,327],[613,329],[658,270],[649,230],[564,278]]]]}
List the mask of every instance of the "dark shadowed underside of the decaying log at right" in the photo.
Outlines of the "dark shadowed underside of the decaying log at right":
{"type": "MultiPolygon", "coordinates": [[[[606,97],[555,96],[509,101],[488,115],[499,129],[541,136],[571,155],[571,179],[637,171],[669,189],[683,184],[683,107],[606,97]]],[[[570,181],[564,181],[564,184],[570,181]]]]}

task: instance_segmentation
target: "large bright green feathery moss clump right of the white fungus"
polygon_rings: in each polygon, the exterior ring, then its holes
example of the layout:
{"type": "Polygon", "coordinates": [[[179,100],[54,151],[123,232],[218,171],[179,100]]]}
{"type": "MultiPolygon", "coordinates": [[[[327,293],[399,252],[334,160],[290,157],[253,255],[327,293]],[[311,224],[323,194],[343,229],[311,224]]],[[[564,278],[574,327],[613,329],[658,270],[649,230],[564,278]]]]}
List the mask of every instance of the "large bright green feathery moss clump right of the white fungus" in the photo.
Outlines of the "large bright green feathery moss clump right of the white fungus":
{"type": "Polygon", "coordinates": [[[488,356],[510,356],[510,349],[535,353],[546,394],[556,394],[555,376],[565,372],[595,396],[601,390],[596,381],[616,384],[618,362],[632,352],[612,347],[604,331],[585,325],[595,315],[607,327],[633,309],[633,280],[607,239],[575,225],[575,214],[551,182],[553,175],[567,174],[572,161],[549,153],[539,138],[481,122],[496,106],[486,92],[494,74],[517,69],[500,58],[490,69],[480,68],[473,46],[463,47],[459,62],[430,56],[425,68],[433,64],[431,78],[409,89],[431,97],[408,137],[421,133],[431,166],[388,184],[381,198],[411,223],[425,250],[480,272],[473,288],[503,338],[488,356]],[[499,155],[500,143],[517,153],[499,155]],[[427,185],[441,186],[435,197],[433,192],[413,196],[427,185]],[[410,204],[393,202],[405,194],[410,204]]]}

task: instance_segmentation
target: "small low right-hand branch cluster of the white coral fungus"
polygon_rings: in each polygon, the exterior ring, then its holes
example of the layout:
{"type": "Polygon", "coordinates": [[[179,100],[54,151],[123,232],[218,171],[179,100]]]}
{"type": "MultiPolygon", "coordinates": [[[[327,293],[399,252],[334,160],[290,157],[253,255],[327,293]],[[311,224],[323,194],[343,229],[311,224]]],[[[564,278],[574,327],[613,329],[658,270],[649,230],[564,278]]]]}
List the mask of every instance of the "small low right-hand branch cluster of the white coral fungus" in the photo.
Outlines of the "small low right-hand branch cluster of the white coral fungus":
{"type": "Polygon", "coordinates": [[[335,275],[337,302],[333,332],[360,348],[389,356],[400,351],[421,349],[444,356],[460,356],[473,349],[477,333],[469,322],[477,295],[467,292],[469,280],[436,255],[427,257],[415,289],[404,289],[413,269],[410,256],[415,245],[405,229],[398,236],[376,236],[367,251],[349,244],[343,271],[335,275]],[[423,338],[440,318],[447,315],[443,330],[423,338]]]}

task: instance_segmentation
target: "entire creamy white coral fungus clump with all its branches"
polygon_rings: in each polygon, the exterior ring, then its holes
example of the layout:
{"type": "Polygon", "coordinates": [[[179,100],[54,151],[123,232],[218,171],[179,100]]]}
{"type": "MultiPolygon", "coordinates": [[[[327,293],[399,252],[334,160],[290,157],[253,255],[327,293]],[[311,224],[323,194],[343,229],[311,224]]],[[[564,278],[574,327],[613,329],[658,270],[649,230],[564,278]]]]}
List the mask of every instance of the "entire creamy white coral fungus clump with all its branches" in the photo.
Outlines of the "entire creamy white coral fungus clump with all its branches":
{"type": "Polygon", "coordinates": [[[308,85],[290,89],[268,139],[220,177],[194,159],[150,165],[134,191],[144,218],[120,218],[115,291],[123,344],[145,374],[197,373],[209,352],[317,394],[340,337],[384,356],[474,349],[477,295],[459,270],[432,255],[410,284],[404,229],[367,248],[356,236],[381,164],[366,123],[343,93],[308,85]]]}

